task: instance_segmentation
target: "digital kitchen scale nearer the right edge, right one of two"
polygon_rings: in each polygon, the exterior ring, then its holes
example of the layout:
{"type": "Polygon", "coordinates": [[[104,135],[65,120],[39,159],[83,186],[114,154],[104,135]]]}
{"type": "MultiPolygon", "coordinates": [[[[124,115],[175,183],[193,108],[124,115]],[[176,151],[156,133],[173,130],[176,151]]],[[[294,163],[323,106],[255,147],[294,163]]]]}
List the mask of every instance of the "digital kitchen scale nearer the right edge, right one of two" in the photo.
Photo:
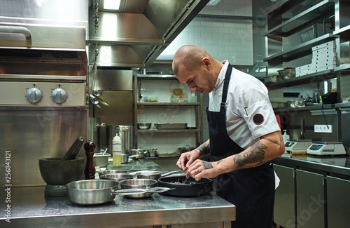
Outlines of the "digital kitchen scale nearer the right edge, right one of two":
{"type": "Polygon", "coordinates": [[[342,142],[314,142],[307,148],[307,154],[335,155],[346,152],[342,142]]]}

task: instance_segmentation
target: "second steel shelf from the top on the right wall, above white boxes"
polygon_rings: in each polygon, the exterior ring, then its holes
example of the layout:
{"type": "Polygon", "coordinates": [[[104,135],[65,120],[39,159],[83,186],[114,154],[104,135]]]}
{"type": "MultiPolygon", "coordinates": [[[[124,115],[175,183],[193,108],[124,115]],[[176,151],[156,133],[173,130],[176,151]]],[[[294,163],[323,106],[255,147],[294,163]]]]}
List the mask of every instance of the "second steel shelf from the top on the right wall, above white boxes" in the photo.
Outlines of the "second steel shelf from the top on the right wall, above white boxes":
{"type": "Polygon", "coordinates": [[[323,36],[318,36],[315,39],[311,39],[311,41],[307,41],[305,43],[301,43],[297,46],[294,46],[288,51],[282,51],[281,53],[276,53],[264,59],[266,62],[289,62],[290,60],[295,60],[304,55],[311,55],[312,47],[321,43],[325,43],[328,41],[332,41],[337,36],[333,34],[325,34],[323,36]]]}

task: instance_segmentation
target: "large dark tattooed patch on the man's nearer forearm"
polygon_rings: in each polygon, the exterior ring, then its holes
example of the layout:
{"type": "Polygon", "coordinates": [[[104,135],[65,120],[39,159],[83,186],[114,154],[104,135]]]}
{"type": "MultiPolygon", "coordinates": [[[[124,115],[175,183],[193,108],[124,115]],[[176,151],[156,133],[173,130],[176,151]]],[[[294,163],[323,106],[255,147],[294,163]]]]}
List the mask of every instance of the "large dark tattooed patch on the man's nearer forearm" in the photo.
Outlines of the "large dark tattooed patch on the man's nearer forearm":
{"type": "Polygon", "coordinates": [[[248,168],[260,165],[265,157],[265,151],[267,146],[258,141],[248,150],[247,153],[237,154],[233,157],[233,162],[235,163],[235,169],[248,168]]]}

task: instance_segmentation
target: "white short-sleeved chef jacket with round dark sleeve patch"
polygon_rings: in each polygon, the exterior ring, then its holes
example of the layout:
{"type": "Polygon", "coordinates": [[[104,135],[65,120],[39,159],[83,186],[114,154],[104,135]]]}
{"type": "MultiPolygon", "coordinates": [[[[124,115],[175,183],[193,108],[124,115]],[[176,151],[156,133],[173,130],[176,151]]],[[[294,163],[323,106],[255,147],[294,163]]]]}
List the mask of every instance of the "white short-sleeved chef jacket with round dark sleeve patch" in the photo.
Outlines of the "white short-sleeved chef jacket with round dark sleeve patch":
{"type": "MultiPolygon", "coordinates": [[[[223,61],[214,90],[209,93],[209,111],[219,112],[223,82],[230,64],[223,61]]],[[[269,102],[266,86],[250,74],[233,68],[226,100],[226,129],[241,148],[253,145],[262,135],[281,130],[269,102]],[[244,108],[245,107],[245,108],[244,108]]]]}

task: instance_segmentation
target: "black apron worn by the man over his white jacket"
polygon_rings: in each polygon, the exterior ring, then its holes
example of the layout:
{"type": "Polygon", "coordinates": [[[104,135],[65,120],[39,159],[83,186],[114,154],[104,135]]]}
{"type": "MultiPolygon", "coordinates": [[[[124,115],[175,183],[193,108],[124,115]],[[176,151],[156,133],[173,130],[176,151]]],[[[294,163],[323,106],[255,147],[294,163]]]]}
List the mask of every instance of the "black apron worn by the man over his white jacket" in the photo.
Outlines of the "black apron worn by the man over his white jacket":
{"type": "MultiPolygon", "coordinates": [[[[223,98],[220,112],[210,112],[209,123],[210,151],[214,161],[244,149],[228,135],[226,129],[225,103],[232,66],[229,64],[223,85],[223,98]]],[[[218,175],[216,194],[236,206],[234,228],[271,228],[274,208],[274,170],[271,162],[254,168],[218,175]]]]}

